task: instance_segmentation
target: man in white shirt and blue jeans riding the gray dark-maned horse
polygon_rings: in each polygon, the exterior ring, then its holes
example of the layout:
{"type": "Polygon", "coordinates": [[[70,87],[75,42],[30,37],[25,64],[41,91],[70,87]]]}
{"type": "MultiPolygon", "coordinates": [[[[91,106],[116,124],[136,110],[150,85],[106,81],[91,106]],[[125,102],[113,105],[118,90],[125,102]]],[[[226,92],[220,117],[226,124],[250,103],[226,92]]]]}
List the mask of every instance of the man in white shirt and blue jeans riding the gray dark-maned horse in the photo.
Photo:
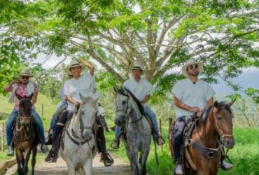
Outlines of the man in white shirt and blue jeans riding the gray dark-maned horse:
{"type": "MultiPolygon", "coordinates": [[[[148,102],[148,99],[151,97],[151,93],[155,90],[153,85],[148,82],[148,80],[141,78],[141,75],[143,74],[143,69],[141,64],[137,63],[134,64],[132,68],[132,74],[133,77],[130,78],[129,80],[126,80],[123,83],[123,87],[127,88],[127,90],[130,90],[132,94],[134,94],[137,99],[139,99],[140,102],[142,102],[143,106],[145,107],[145,114],[148,116],[153,125],[154,129],[153,130],[153,137],[155,137],[155,140],[157,141],[158,145],[165,144],[165,140],[162,138],[162,136],[159,135],[159,130],[158,130],[158,121],[156,119],[155,113],[151,110],[151,108],[146,104],[148,102]]],[[[118,149],[120,145],[120,141],[118,139],[120,133],[120,127],[116,126],[116,134],[115,134],[115,139],[113,141],[113,144],[111,145],[111,148],[118,149]]]]}

